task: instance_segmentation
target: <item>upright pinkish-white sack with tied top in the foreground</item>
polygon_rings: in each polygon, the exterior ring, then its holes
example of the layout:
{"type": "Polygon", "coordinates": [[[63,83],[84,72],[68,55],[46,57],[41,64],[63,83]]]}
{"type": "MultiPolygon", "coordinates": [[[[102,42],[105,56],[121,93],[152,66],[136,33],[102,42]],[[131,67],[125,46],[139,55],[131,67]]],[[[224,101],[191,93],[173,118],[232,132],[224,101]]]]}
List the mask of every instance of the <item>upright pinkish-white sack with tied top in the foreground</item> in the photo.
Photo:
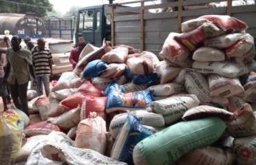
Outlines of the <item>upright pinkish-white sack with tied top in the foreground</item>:
{"type": "Polygon", "coordinates": [[[106,122],[103,118],[94,115],[92,118],[82,120],[77,127],[74,146],[89,148],[104,154],[107,145],[106,132],[106,122]]]}

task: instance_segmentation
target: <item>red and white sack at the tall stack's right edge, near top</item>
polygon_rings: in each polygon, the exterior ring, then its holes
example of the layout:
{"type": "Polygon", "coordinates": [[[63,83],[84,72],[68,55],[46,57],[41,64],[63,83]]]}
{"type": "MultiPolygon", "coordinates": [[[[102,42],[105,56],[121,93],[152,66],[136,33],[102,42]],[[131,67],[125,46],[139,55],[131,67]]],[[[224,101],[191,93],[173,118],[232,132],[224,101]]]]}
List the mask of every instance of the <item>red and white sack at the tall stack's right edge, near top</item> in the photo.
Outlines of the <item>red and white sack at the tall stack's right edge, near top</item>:
{"type": "Polygon", "coordinates": [[[253,58],[255,57],[253,36],[244,34],[242,39],[239,39],[239,41],[231,45],[231,47],[228,47],[225,52],[228,57],[242,57],[245,58],[246,61],[253,61],[253,58]]]}

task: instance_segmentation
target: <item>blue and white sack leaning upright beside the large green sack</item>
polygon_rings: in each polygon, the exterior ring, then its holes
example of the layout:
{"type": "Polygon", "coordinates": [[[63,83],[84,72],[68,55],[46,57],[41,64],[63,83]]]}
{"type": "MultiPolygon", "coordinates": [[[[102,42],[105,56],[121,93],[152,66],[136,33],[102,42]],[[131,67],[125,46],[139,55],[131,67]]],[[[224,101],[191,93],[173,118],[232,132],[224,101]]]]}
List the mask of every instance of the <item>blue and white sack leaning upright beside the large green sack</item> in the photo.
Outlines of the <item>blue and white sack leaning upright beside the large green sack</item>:
{"type": "Polygon", "coordinates": [[[149,137],[153,133],[140,124],[140,120],[131,113],[127,114],[127,120],[122,126],[120,133],[111,151],[111,158],[133,164],[132,152],[134,146],[141,140],[149,137]]]}

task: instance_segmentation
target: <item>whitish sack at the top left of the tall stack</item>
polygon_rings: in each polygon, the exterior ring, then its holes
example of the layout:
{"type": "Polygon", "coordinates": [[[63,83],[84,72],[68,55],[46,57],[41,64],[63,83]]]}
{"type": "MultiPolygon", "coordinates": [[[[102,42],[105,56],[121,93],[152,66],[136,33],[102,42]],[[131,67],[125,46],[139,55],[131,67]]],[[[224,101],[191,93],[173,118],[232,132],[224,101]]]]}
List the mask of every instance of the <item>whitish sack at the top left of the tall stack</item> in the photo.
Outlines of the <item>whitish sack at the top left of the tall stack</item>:
{"type": "Polygon", "coordinates": [[[182,22],[182,32],[194,30],[205,22],[207,22],[206,19],[190,19],[189,21],[184,21],[182,22]]]}

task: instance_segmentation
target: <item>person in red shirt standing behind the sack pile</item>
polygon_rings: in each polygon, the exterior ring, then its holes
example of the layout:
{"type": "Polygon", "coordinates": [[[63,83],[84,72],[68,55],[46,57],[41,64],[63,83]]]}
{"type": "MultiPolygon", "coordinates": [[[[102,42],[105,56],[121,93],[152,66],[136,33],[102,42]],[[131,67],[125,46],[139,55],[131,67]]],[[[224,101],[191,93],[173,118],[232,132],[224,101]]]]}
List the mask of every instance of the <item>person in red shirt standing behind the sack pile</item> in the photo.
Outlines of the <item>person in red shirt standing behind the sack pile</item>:
{"type": "Polygon", "coordinates": [[[85,47],[85,40],[83,37],[80,37],[78,39],[78,47],[75,47],[70,52],[70,63],[73,66],[73,69],[76,67],[76,64],[78,63],[79,56],[85,47]]]}

